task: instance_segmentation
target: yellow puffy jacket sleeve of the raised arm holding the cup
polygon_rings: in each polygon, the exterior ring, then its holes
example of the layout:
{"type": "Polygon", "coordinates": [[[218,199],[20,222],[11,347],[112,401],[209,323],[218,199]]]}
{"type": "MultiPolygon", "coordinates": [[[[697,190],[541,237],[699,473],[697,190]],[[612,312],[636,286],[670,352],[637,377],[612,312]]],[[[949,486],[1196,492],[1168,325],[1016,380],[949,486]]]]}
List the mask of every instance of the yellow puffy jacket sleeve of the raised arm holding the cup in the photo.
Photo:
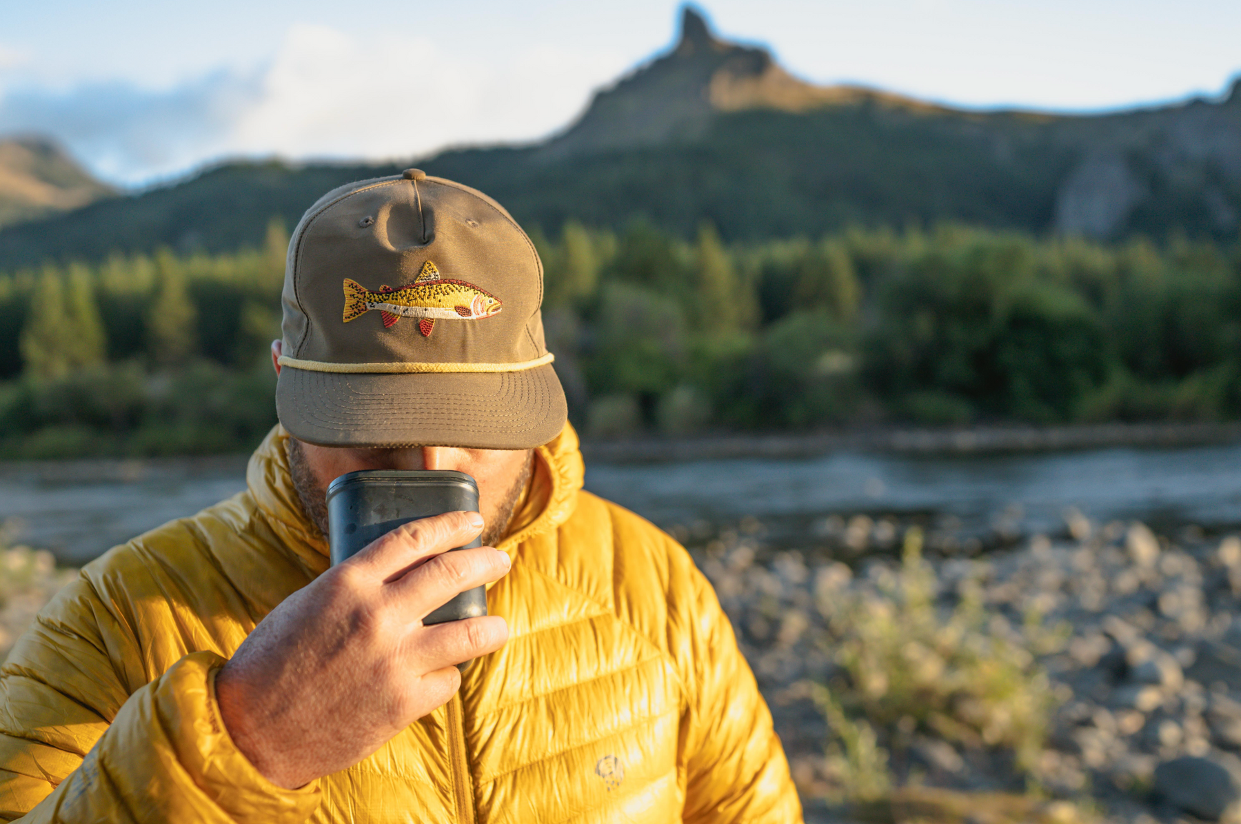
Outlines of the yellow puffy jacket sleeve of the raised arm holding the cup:
{"type": "Polygon", "coordinates": [[[300,824],[310,784],[268,782],[220,719],[223,659],[190,653],[141,683],[114,616],[79,578],[50,603],[0,671],[0,820],[300,824]],[[113,632],[101,630],[112,624],[113,632]]]}

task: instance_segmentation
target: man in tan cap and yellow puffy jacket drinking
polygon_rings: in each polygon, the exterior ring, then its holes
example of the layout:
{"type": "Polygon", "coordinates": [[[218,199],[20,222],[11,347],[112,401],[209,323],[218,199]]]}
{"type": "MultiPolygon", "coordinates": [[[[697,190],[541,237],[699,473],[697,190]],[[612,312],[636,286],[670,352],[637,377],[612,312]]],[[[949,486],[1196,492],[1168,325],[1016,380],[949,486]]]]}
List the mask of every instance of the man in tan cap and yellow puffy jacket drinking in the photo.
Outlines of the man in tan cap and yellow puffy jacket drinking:
{"type": "Polygon", "coordinates": [[[88,565],[14,648],[0,818],[798,820],[710,586],[581,490],[541,295],[479,192],[411,169],[320,199],[289,246],[282,426],[247,491],[88,565]],[[385,468],[467,472],[480,514],[329,568],[328,483],[385,468]],[[446,552],[480,532],[498,549],[446,552]],[[488,617],[422,624],[480,584],[488,617]]]}

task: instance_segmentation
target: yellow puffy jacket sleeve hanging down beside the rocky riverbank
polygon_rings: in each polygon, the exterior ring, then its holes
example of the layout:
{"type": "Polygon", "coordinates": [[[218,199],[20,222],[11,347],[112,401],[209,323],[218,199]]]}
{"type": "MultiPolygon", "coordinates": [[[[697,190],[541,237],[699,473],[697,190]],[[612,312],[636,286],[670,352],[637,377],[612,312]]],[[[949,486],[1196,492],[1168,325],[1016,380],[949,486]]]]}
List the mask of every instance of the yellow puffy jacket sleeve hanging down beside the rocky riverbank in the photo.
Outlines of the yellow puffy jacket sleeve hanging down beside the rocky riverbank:
{"type": "Polygon", "coordinates": [[[683,752],[684,820],[694,824],[802,820],[784,748],[732,624],[711,584],[690,561],[681,612],[690,699],[683,752]],[[691,611],[686,614],[686,611],[691,611]]]}

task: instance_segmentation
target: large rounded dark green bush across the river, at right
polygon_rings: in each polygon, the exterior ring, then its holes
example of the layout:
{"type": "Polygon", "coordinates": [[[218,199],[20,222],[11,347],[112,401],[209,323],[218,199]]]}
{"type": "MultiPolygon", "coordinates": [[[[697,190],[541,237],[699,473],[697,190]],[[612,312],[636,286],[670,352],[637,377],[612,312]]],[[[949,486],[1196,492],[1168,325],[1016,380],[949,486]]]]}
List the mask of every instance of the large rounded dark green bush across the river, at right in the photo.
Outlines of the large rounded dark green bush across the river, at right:
{"type": "Polygon", "coordinates": [[[890,271],[867,339],[871,386],[897,408],[951,397],[993,417],[1072,419],[1114,351],[1098,313],[1041,252],[1029,238],[946,231],[890,271]]]}

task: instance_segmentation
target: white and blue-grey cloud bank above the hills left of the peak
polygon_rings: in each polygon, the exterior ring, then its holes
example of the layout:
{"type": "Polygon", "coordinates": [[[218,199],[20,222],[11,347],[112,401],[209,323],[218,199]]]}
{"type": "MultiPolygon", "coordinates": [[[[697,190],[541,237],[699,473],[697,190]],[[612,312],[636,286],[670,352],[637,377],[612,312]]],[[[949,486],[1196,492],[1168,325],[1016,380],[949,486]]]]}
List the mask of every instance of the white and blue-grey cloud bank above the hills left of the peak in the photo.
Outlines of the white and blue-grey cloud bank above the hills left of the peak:
{"type": "MultiPolygon", "coordinates": [[[[0,52],[2,55],[2,52],[0,52]]],[[[233,155],[413,158],[446,145],[536,139],[623,68],[616,56],[529,46],[480,60],[428,38],[293,26],[248,73],[171,89],[94,83],[12,91],[0,133],[65,143],[97,174],[141,184],[233,155]]]]}

